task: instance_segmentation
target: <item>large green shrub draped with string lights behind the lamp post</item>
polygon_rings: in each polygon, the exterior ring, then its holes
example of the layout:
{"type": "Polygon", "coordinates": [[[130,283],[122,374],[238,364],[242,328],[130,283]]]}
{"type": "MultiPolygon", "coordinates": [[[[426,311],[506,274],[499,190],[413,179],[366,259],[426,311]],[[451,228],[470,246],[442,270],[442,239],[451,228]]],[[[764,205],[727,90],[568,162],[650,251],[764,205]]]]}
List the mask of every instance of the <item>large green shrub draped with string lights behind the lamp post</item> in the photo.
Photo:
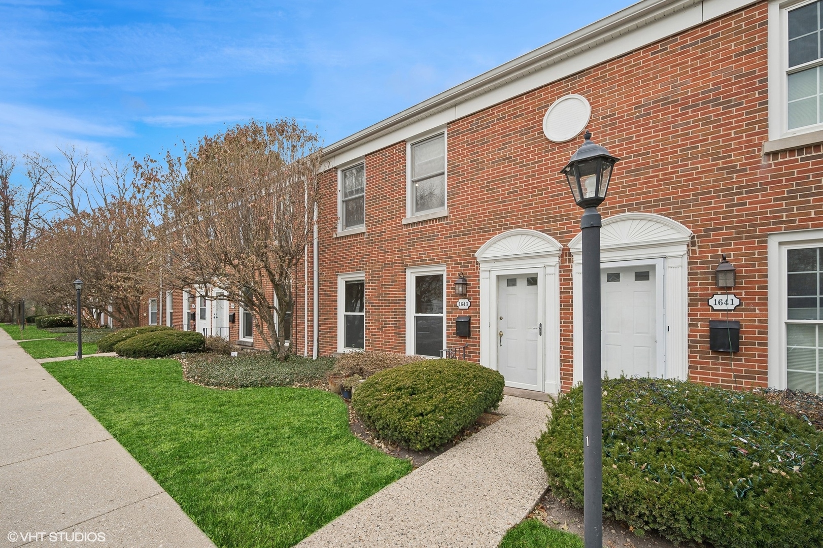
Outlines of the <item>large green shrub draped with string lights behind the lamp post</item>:
{"type": "MultiPolygon", "coordinates": [[[[603,513],[721,546],[823,546],[823,433],[751,392],[603,381],[603,513]]],[[[551,490],[583,507],[583,388],[537,439],[551,490]]]]}

